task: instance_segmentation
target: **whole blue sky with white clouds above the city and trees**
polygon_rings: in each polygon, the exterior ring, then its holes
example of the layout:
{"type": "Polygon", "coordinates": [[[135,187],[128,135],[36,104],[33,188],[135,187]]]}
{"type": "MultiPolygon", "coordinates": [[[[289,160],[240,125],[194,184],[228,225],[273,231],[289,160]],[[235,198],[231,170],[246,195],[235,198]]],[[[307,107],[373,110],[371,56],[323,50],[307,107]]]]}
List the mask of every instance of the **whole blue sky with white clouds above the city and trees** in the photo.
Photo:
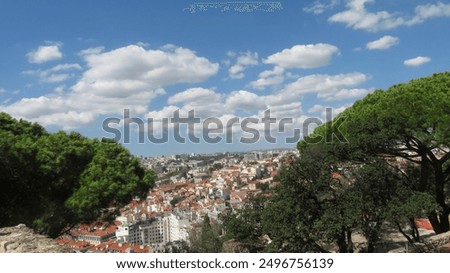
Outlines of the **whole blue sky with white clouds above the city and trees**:
{"type": "Polygon", "coordinates": [[[209,136],[222,137],[177,143],[170,124],[167,143],[138,143],[132,124],[125,146],[139,155],[294,147],[286,137],[323,120],[325,108],[336,115],[375,89],[450,68],[449,1],[200,2],[3,0],[0,111],[50,131],[114,137],[103,121],[121,119],[109,128],[123,136],[124,109],[153,119],[156,136],[162,119],[194,110],[201,122],[215,118],[209,136]],[[275,143],[262,122],[247,124],[260,133],[253,144],[241,143],[251,134],[239,124],[225,126],[267,109],[292,121],[284,133],[271,125],[275,143]]]}

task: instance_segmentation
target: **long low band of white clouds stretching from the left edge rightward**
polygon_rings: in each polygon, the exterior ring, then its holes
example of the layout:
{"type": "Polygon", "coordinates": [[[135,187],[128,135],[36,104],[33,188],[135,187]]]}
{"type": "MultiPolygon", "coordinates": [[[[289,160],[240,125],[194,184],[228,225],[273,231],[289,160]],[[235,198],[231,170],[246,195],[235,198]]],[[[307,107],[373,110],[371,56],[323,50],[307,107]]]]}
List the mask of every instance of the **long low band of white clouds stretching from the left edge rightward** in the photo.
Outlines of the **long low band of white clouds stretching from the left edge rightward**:
{"type": "Polygon", "coordinates": [[[367,79],[367,75],[358,72],[313,74],[300,77],[269,95],[258,95],[246,90],[225,94],[201,87],[189,88],[170,96],[167,105],[156,111],[149,111],[148,103],[165,94],[161,88],[110,97],[95,91],[80,92],[75,87],[63,93],[64,86],[59,86],[60,92],[37,98],[23,98],[11,105],[2,106],[1,110],[43,125],[59,125],[66,130],[92,123],[100,115],[122,114],[123,109],[130,109],[133,115],[145,114],[145,117],[155,120],[171,118],[177,110],[181,117],[187,117],[190,110],[195,110],[196,117],[203,119],[229,119],[239,113],[246,113],[246,117],[260,118],[266,109],[270,109],[273,117],[293,118],[297,124],[304,118],[301,100],[305,94],[316,94],[325,101],[359,98],[371,90],[353,87],[367,79]]]}

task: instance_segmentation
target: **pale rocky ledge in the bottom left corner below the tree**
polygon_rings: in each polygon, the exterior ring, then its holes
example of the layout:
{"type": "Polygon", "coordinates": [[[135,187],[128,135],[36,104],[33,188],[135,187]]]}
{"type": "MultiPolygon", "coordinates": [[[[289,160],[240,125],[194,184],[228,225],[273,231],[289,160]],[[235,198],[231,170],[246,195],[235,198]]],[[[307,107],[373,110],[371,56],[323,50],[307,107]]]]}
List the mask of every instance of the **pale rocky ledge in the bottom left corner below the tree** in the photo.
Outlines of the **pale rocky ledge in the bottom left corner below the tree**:
{"type": "Polygon", "coordinates": [[[71,250],[20,224],[15,227],[0,228],[0,253],[6,252],[67,253],[71,250]]]}

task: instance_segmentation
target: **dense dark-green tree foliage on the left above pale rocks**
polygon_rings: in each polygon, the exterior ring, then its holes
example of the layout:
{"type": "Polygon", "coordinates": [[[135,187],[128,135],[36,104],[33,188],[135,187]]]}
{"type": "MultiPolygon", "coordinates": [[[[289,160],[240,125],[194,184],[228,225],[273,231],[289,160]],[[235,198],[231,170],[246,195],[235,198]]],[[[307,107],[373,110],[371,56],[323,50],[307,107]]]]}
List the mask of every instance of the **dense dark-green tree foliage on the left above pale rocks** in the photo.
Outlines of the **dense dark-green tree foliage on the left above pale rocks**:
{"type": "Polygon", "coordinates": [[[49,133],[0,113],[0,226],[27,224],[50,236],[145,196],[153,173],[111,140],[49,133]]]}

